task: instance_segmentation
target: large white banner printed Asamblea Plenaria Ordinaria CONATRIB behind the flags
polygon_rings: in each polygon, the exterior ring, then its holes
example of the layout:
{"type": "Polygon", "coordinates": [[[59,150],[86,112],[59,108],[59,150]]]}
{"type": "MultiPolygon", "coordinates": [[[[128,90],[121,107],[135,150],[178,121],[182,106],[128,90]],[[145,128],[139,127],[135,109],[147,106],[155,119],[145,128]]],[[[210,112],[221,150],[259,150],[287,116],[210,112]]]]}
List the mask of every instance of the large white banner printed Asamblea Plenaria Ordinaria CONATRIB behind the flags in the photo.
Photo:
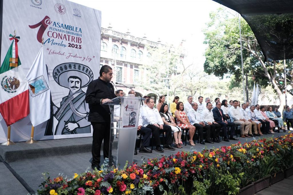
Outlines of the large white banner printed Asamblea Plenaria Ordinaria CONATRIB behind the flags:
{"type": "MultiPolygon", "coordinates": [[[[1,64],[14,30],[20,36],[18,55],[25,73],[44,41],[52,112],[50,120],[35,126],[35,139],[91,136],[84,98],[89,82],[99,76],[101,12],[66,0],[4,0],[2,10],[1,64]]],[[[26,117],[11,125],[11,140],[26,141],[30,131],[26,117]]],[[[6,138],[0,116],[0,143],[6,138]]]]}

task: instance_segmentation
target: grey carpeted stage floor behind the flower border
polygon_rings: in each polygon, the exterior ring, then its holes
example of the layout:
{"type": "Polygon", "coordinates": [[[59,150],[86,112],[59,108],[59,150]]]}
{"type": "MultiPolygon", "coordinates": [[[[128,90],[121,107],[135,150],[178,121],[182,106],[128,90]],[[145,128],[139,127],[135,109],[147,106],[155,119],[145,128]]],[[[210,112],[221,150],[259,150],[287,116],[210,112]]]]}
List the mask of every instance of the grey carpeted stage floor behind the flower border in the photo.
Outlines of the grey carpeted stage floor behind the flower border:
{"type": "MultiPolygon", "coordinates": [[[[285,134],[288,134],[288,131],[263,135],[256,139],[285,134]]],[[[239,138],[239,141],[244,143],[252,139],[252,137],[239,138]]],[[[158,153],[153,150],[153,153],[138,153],[138,155],[134,155],[134,161],[141,164],[148,158],[160,158],[161,155],[168,156],[178,151],[201,151],[205,147],[218,148],[237,142],[230,140],[230,142],[222,141],[205,145],[196,142],[193,147],[184,145],[183,148],[176,148],[175,151],[165,150],[163,153],[158,153]]],[[[57,177],[59,174],[72,178],[74,173],[85,172],[91,167],[91,144],[92,137],[85,137],[45,140],[35,144],[18,142],[11,146],[0,146],[0,194],[15,195],[36,192],[39,189],[38,186],[44,181],[43,172],[49,172],[51,178],[57,177]]],[[[113,145],[115,147],[117,142],[114,141],[113,145]]],[[[103,162],[103,155],[101,155],[101,162],[103,162]]]]}

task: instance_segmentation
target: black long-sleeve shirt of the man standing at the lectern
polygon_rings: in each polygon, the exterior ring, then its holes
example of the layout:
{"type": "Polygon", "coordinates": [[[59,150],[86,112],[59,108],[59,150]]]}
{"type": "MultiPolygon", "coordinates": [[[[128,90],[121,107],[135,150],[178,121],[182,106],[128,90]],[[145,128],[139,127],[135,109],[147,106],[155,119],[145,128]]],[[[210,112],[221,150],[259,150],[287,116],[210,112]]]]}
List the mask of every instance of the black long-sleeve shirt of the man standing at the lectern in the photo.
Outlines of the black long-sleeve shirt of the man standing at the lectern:
{"type": "Polygon", "coordinates": [[[105,82],[100,77],[93,80],[86,90],[86,103],[90,112],[88,114],[89,122],[109,122],[111,120],[111,113],[109,105],[101,105],[101,99],[113,99],[116,95],[114,87],[111,83],[105,82]]]}

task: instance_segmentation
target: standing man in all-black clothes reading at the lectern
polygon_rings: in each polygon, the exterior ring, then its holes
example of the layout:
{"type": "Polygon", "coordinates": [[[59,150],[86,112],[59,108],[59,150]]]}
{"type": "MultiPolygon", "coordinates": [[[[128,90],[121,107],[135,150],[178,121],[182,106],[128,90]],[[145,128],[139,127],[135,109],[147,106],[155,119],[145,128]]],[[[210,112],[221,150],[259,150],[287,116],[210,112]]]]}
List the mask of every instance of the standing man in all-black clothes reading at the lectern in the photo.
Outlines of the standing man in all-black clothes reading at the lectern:
{"type": "Polygon", "coordinates": [[[100,69],[100,77],[93,80],[86,90],[86,103],[88,103],[88,121],[93,126],[93,145],[91,167],[100,168],[100,150],[102,141],[104,158],[109,158],[109,165],[113,165],[113,156],[110,149],[111,112],[108,105],[102,105],[116,97],[114,87],[110,83],[113,77],[112,68],[104,65],[100,69]],[[110,150],[110,151],[109,151],[110,150]]]}

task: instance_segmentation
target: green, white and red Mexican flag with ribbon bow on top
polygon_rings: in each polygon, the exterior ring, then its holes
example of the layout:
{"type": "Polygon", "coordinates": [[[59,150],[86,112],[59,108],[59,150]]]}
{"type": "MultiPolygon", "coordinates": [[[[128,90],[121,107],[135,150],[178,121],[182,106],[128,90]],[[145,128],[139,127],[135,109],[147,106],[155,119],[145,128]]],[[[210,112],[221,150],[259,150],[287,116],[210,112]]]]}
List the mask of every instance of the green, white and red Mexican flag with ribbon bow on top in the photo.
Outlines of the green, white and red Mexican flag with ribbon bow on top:
{"type": "Polygon", "coordinates": [[[12,43],[0,67],[0,113],[7,126],[30,113],[28,80],[18,57],[20,37],[9,35],[9,40],[12,43]]]}

